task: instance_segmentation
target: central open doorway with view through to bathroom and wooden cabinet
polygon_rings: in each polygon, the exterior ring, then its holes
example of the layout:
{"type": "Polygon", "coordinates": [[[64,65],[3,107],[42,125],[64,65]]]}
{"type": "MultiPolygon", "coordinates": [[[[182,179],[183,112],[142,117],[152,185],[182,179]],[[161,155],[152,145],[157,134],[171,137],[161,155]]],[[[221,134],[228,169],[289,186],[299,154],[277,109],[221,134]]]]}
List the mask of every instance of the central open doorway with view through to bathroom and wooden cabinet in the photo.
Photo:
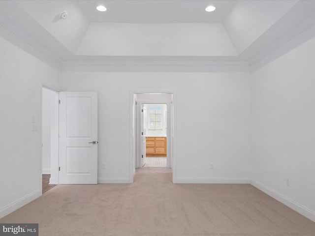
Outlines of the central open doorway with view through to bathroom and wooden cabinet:
{"type": "Polygon", "coordinates": [[[165,168],[172,171],[174,160],[174,94],[132,92],[131,95],[133,173],[135,173],[136,168],[151,167],[150,165],[162,167],[165,164],[165,168]],[[151,157],[153,158],[149,159],[151,157]],[[151,160],[153,161],[152,164],[150,164],[151,160]]]}

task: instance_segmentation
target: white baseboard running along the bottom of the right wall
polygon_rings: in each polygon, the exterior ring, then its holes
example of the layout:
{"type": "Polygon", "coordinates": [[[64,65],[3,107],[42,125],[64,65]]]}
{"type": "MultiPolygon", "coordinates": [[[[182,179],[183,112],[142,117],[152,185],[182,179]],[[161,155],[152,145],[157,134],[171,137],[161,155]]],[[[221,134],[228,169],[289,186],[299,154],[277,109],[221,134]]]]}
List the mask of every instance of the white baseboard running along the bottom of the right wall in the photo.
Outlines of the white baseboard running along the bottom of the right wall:
{"type": "Polygon", "coordinates": [[[268,194],[270,197],[278,200],[279,202],[281,202],[285,206],[290,207],[291,209],[299,212],[301,215],[303,215],[306,218],[309,218],[310,220],[315,222],[315,212],[313,210],[310,210],[307,207],[304,207],[304,206],[294,202],[293,200],[282,195],[281,193],[278,193],[277,191],[275,191],[271,188],[268,188],[264,184],[254,180],[254,179],[251,179],[251,184],[254,187],[258,188],[259,190],[263,191],[264,193],[268,194]]]}

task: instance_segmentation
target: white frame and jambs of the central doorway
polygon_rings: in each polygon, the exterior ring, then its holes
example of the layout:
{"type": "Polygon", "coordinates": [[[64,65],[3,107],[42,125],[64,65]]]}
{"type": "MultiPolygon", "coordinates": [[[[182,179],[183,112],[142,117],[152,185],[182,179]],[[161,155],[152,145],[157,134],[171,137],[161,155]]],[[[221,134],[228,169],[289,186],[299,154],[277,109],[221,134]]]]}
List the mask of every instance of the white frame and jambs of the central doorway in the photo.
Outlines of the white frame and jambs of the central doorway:
{"type": "Polygon", "coordinates": [[[174,91],[130,92],[130,180],[133,182],[135,168],[141,163],[141,107],[142,104],[167,104],[167,167],[172,168],[173,182],[176,180],[176,100],[174,91]],[[170,101],[136,101],[136,94],[170,94],[170,101]]]}

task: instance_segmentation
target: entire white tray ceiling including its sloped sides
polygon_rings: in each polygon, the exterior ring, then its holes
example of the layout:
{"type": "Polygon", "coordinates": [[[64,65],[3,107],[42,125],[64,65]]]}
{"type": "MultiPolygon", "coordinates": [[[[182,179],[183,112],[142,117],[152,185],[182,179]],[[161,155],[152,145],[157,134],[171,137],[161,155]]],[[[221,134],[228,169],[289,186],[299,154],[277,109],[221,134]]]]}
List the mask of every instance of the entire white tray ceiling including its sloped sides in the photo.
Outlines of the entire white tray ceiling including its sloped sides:
{"type": "Polygon", "coordinates": [[[0,25],[61,63],[254,63],[312,26],[314,11],[314,0],[1,0],[0,25]]]}

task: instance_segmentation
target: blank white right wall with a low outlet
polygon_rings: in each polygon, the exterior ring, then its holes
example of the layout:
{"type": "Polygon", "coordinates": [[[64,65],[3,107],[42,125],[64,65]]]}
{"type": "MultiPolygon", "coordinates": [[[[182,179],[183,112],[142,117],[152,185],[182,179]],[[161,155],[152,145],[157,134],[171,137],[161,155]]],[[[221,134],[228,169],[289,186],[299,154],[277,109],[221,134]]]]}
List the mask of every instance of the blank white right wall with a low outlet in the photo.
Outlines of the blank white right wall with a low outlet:
{"type": "Polygon", "coordinates": [[[251,80],[252,183],[313,221],[314,49],[315,37],[253,71],[251,80]]]}

